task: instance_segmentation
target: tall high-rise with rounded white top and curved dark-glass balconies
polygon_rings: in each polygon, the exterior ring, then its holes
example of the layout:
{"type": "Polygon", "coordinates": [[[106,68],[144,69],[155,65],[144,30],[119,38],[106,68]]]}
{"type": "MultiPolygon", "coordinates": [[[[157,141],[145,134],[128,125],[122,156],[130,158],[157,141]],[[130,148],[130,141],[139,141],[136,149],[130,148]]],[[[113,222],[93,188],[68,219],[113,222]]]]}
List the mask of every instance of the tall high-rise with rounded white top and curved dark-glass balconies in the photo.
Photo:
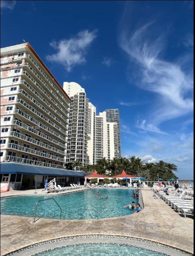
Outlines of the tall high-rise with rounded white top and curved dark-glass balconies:
{"type": "Polygon", "coordinates": [[[78,83],[64,82],[63,89],[71,98],[66,161],[79,161],[84,166],[89,163],[89,99],[78,83]]]}

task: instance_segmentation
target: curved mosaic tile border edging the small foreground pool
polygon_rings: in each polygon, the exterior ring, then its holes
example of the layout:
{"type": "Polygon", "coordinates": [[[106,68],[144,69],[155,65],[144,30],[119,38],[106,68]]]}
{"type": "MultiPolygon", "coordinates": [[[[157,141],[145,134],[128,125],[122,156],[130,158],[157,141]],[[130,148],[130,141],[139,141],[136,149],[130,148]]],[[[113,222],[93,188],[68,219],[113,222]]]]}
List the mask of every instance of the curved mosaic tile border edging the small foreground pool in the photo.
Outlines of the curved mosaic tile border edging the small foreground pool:
{"type": "MultiPolygon", "coordinates": [[[[60,241],[66,241],[66,240],[74,240],[74,239],[82,239],[82,238],[111,238],[111,239],[114,239],[114,238],[118,238],[118,239],[124,239],[124,240],[133,240],[133,241],[140,241],[140,242],[145,242],[145,243],[150,243],[150,244],[154,244],[154,245],[157,245],[157,246],[162,246],[162,247],[165,247],[167,249],[172,249],[172,250],[175,250],[175,251],[178,251],[178,252],[182,252],[183,254],[185,255],[193,255],[192,253],[190,252],[187,252],[187,251],[184,251],[182,249],[178,249],[178,248],[175,248],[173,246],[169,246],[169,245],[165,245],[165,244],[161,244],[161,243],[158,243],[158,242],[154,242],[154,241],[150,241],[150,240],[146,240],[146,239],[141,239],[141,238],[135,238],[135,237],[131,237],[131,236],[123,236],[123,235],[77,235],[77,236],[66,236],[66,237],[63,237],[63,238],[58,238],[58,239],[52,239],[52,240],[48,240],[48,241],[44,241],[44,242],[41,242],[41,243],[36,243],[36,244],[33,244],[33,245],[30,245],[30,246],[26,246],[26,247],[23,247],[19,250],[16,250],[16,251],[13,251],[9,254],[6,254],[5,256],[12,256],[18,252],[22,252],[24,250],[27,250],[27,249],[31,249],[33,247],[37,247],[37,246],[41,246],[41,245],[46,245],[46,244],[50,244],[50,243],[56,243],[56,242],[60,242],[60,241]]],[[[95,243],[82,243],[82,244],[95,244],[95,243]]],[[[96,243],[96,244],[100,244],[100,243],[96,243]]],[[[112,243],[102,243],[102,244],[112,244],[112,243]]],[[[121,243],[113,243],[113,244],[121,244],[121,243]]],[[[76,244],[75,244],[76,245],[76,244]]],[[[78,244],[80,245],[80,244],[78,244]]],[[[126,244],[122,244],[122,245],[126,245],[126,244]]],[[[74,246],[74,244],[72,245],[74,246]]],[[[128,245],[126,245],[128,246],[128,245]]],[[[131,245],[129,245],[131,246],[131,245]]],[[[66,246],[60,246],[59,249],[61,249],[61,247],[66,247],[66,246]]],[[[136,247],[136,246],[135,246],[136,247]]],[[[142,248],[142,247],[141,247],[142,248]]],[[[50,250],[55,250],[55,248],[53,249],[49,249],[48,251],[50,250]]],[[[46,250],[47,251],[47,250],[46,250]]],[[[44,251],[44,252],[46,252],[44,251]]],[[[154,251],[154,250],[152,250],[154,251]]],[[[156,251],[158,252],[158,251],[156,251]]],[[[32,254],[31,256],[36,256],[37,254],[32,254]]],[[[167,254],[165,254],[167,256],[167,254]]]]}

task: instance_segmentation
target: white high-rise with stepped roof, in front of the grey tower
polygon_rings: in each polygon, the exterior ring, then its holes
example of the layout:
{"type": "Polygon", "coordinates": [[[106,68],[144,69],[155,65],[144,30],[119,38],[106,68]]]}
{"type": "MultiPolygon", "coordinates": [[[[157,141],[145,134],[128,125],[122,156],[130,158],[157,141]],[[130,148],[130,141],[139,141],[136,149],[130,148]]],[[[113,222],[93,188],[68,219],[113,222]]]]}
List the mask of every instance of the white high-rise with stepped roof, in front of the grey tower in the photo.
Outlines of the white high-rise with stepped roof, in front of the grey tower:
{"type": "Polygon", "coordinates": [[[118,125],[117,122],[106,121],[106,111],[96,116],[95,130],[95,162],[106,158],[118,157],[118,125]]]}

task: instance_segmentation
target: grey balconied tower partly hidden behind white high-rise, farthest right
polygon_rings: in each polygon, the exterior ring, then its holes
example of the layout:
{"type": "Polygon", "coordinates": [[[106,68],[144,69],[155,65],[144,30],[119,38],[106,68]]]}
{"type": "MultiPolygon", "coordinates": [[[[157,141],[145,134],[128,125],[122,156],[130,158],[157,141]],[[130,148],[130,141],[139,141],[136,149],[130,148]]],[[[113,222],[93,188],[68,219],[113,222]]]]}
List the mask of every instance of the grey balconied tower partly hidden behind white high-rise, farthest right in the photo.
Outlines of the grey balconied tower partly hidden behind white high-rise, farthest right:
{"type": "Polygon", "coordinates": [[[120,115],[118,109],[106,109],[106,121],[117,123],[117,138],[115,146],[115,157],[121,158],[121,142],[120,142],[120,115]]]}

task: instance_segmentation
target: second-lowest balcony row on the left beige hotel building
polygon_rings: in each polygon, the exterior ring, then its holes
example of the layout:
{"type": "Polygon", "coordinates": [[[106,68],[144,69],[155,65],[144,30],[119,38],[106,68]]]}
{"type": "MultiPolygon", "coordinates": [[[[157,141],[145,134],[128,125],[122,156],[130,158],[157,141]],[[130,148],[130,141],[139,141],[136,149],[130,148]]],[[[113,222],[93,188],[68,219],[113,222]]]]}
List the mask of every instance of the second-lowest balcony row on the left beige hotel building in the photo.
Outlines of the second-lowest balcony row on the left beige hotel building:
{"type": "Polygon", "coordinates": [[[15,149],[16,151],[19,151],[19,152],[22,151],[23,153],[29,153],[29,154],[36,155],[36,156],[39,156],[39,157],[45,157],[45,158],[49,158],[49,159],[59,161],[59,162],[64,162],[65,161],[64,158],[53,156],[51,154],[47,154],[47,153],[44,153],[44,152],[41,152],[41,151],[37,151],[35,149],[20,146],[20,145],[14,144],[14,143],[8,143],[7,148],[13,148],[13,149],[15,149]]]}

